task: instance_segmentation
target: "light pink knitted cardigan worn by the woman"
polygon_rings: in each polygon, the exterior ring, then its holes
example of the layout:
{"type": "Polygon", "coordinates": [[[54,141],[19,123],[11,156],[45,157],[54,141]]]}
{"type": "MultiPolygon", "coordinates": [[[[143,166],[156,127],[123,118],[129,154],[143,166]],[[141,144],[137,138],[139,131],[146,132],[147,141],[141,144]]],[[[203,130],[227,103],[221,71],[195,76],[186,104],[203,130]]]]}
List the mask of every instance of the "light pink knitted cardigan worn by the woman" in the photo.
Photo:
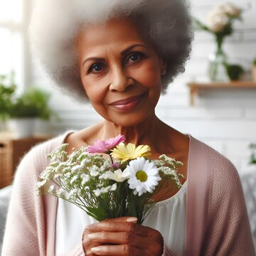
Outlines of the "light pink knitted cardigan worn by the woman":
{"type": "MultiPolygon", "coordinates": [[[[14,179],[2,256],[55,255],[58,199],[35,196],[46,155],[66,135],[34,147],[14,179]]],[[[240,179],[233,164],[190,136],[185,255],[254,256],[255,250],[240,179]]],[[[163,220],[164,221],[164,220],[163,220]]],[[[85,255],[82,241],[66,255],[85,255]]],[[[164,255],[174,255],[165,248],[164,255]]]]}

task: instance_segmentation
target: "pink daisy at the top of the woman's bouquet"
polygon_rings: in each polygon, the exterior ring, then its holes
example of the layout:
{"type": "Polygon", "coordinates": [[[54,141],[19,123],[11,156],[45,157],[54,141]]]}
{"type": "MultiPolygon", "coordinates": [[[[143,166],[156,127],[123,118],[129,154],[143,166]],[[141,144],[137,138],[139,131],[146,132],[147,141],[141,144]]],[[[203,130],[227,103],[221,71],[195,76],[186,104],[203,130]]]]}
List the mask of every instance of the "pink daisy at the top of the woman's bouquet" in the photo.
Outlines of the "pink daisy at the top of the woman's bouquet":
{"type": "Polygon", "coordinates": [[[105,141],[102,141],[99,139],[97,140],[97,142],[95,142],[95,144],[87,147],[87,152],[92,154],[107,153],[108,151],[110,151],[110,149],[113,149],[114,146],[117,146],[118,144],[124,141],[125,141],[125,137],[124,135],[121,135],[121,134],[117,135],[117,137],[110,138],[105,141]]]}

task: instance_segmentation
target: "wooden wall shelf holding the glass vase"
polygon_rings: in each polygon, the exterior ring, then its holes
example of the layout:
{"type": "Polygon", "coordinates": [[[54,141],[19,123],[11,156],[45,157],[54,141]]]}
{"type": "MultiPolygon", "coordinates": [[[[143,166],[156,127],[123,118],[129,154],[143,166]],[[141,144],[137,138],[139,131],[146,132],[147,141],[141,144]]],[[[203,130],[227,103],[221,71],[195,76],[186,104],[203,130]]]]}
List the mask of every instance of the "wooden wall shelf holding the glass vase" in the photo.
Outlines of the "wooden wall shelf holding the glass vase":
{"type": "Polygon", "coordinates": [[[194,105],[194,97],[200,90],[215,89],[256,89],[256,82],[237,81],[237,82],[189,82],[190,104],[194,105]]]}

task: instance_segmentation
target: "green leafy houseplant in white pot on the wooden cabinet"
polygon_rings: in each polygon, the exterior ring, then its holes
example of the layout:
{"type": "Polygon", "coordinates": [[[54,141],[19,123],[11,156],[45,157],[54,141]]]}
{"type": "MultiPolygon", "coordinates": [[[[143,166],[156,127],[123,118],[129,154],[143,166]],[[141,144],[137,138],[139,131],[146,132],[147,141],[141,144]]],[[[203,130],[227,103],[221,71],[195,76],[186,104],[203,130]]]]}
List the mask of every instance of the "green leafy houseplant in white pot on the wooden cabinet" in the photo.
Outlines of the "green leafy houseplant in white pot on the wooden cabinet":
{"type": "Polygon", "coordinates": [[[16,92],[14,74],[0,77],[0,118],[9,120],[11,129],[17,137],[28,137],[33,134],[36,119],[49,120],[57,117],[50,109],[50,94],[36,87],[29,87],[22,94],[16,92]]]}

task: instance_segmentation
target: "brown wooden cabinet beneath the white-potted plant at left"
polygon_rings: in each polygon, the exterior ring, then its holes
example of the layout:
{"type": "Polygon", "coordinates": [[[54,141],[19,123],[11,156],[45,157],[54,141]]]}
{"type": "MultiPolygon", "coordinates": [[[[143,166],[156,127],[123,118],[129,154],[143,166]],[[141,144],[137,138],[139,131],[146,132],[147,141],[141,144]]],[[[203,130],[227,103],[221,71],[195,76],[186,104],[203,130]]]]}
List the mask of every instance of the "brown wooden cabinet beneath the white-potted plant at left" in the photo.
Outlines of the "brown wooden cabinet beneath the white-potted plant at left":
{"type": "Polygon", "coordinates": [[[21,158],[32,146],[49,137],[15,139],[12,134],[0,132],[0,188],[11,184],[21,158]]]}

